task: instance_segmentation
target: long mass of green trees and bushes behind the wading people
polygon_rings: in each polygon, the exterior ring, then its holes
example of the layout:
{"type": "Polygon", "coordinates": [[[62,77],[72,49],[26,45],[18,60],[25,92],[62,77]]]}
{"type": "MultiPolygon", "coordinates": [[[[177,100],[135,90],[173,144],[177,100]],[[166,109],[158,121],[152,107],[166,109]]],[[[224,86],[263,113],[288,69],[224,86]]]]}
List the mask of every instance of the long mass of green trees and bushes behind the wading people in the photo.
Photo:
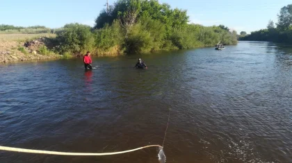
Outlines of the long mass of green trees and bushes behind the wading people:
{"type": "Polygon", "coordinates": [[[188,24],[186,10],[157,0],[118,0],[102,10],[94,28],[67,24],[57,34],[59,53],[141,53],[236,44],[236,31],[225,26],[188,24]]]}

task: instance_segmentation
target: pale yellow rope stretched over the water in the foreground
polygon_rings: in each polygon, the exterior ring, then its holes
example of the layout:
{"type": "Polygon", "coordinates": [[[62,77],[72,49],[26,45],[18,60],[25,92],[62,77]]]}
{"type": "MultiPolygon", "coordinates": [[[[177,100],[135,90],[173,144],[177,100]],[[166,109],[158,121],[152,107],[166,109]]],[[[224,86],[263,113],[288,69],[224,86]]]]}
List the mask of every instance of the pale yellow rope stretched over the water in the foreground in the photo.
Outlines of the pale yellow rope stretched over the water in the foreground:
{"type": "Polygon", "coordinates": [[[19,152],[19,153],[38,153],[38,154],[47,154],[47,155],[117,155],[117,154],[122,154],[122,153],[138,151],[143,148],[149,148],[149,147],[163,148],[162,146],[159,146],[159,145],[151,145],[151,146],[143,146],[140,148],[131,149],[128,151],[120,151],[120,152],[113,152],[113,153],[67,153],[67,152],[56,152],[56,151],[41,151],[41,150],[24,149],[24,148],[13,148],[13,147],[7,147],[7,146],[0,146],[0,150],[19,152]]]}

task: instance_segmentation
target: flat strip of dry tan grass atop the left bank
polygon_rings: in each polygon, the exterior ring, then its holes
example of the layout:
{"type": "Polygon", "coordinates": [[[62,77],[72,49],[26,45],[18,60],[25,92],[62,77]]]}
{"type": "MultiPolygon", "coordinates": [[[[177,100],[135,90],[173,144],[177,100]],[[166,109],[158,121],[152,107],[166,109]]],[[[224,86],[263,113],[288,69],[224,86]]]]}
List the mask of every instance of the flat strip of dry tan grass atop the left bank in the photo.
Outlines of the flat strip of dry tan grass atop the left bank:
{"type": "Polygon", "coordinates": [[[17,41],[26,42],[29,40],[34,40],[39,37],[56,37],[55,34],[48,33],[38,33],[38,34],[0,34],[1,41],[17,41]]]}

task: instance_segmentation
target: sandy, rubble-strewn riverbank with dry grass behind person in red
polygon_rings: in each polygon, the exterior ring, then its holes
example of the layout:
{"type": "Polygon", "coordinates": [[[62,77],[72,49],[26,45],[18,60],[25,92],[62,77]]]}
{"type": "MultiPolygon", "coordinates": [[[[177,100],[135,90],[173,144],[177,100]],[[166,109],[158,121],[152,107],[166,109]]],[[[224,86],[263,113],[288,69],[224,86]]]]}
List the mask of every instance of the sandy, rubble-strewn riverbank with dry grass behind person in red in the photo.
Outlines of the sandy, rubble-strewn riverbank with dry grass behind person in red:
{"type": "MultiPolygon", "coordinates": [[[[42,42],[42,40],[45,40],[46,37],[40,37],[28,42],[23,42],[23,39],[1,40],[1,37],[3,37],[3,35],[0,35],[0,63],[35,60],[60,60],[68,58],[79,58],[83,56],[82,54],[78,53],[65,53],[60,55],[50,51],[49,49],[51,49],[51,47],[42,42]]],[[[117,51],[117,47],[113,47],[108,49],[108,51],[92,51],[92,55],[97,57],[115,57],[118,55],[123,55],[123,53],[117,51]]]]}

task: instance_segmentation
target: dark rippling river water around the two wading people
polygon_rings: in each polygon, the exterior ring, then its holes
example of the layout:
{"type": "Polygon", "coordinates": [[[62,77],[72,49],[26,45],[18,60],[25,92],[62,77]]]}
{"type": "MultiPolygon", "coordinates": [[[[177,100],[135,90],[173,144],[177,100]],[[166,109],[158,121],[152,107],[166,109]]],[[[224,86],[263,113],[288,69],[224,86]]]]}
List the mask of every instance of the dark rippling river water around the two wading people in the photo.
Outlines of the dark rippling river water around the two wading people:
{"type": "MultiPolygon", "coordinates": [[[[166,162],[292,162],[292,50],[268,42],[0,65],[0,145],[166,162]]],[[[0,151],[0,162],[159,162],[0,151]]]]}

